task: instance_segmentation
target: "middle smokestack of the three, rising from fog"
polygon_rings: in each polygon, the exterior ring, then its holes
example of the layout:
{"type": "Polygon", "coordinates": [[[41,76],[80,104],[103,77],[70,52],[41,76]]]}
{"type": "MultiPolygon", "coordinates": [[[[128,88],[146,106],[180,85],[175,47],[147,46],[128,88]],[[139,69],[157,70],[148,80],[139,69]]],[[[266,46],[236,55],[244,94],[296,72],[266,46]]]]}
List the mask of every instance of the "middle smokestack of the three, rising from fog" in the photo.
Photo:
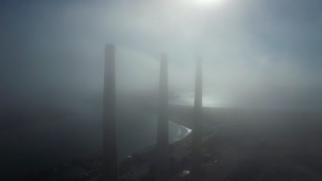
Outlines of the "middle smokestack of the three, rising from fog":
{"type": "Polygon", "coordinates": [[[168,136],[168,60],[161,55],[159,89],[158,135],[156,150],[156,181],[169,180],[169,136],[168,136]]]}

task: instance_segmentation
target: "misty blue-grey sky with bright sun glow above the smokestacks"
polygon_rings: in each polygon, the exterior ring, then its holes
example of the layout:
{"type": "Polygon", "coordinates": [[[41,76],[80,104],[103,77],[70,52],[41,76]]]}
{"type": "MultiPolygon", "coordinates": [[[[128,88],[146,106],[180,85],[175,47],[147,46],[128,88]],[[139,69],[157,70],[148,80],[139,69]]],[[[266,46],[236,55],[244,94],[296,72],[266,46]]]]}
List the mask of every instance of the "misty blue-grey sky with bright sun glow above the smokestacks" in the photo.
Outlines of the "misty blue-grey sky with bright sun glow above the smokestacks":
{"type": "MultiPolygon", "coordinates": [[[[321,1],[1,1],[2,106],[103,93],[104,47],[116,45],[118,90],[204,89],[236,104],[322,108],[321,1]]],[[[61,101],[60,101],[61,100],[61,101]]]]}

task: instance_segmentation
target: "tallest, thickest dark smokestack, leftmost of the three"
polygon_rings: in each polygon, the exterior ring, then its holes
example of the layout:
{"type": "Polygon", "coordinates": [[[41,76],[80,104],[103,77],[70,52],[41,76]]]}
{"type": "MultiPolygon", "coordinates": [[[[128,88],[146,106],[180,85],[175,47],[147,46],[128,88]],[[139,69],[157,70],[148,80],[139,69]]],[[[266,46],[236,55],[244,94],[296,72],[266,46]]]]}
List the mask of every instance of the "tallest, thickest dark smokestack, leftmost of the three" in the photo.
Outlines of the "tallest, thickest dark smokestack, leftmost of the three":
{"type": "Polygon", "coordinates": [[[103,174],[105,180],[118,181],[118,141],[116,126],[115,47],[105,46],[103,110],[103,174]]]}

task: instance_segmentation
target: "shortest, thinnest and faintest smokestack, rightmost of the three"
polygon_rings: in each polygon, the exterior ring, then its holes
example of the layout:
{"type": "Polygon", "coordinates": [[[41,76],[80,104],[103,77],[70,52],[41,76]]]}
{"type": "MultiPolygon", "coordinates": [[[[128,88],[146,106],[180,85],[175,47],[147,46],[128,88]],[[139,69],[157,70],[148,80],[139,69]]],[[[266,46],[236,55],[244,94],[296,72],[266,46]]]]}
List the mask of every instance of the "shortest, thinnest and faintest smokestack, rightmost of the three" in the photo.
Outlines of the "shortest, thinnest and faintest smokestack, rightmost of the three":
{"type": "Polygon", "coordinates": [[[202,60],[197,60],[195,71],[195,107],[192,131],[192,170],[193,181],[200,180],[202,150],[202,60]]]}

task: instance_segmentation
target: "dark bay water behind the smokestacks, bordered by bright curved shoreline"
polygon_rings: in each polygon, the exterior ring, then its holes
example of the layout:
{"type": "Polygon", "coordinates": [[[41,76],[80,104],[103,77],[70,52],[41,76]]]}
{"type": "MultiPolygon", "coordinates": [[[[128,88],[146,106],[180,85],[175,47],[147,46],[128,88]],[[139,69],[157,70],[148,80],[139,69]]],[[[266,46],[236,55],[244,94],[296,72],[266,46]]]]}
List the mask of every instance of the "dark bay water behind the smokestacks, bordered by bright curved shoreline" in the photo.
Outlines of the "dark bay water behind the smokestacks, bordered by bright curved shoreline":
{"type": "MultiPolygon", "coordinates": [[[[65,160],[92,154],[102,149],[102,112],[83,106],[63,119],[43,120],[35,125],[1,132],[1,177],[21,178],[65,160]]],[[[157,116],[142,110],[118,111],[118,147],[120,159],[156,142],[157,116]]],[[[180,140],[191,130],[169,121],[169,142],[180,140]]]]}

